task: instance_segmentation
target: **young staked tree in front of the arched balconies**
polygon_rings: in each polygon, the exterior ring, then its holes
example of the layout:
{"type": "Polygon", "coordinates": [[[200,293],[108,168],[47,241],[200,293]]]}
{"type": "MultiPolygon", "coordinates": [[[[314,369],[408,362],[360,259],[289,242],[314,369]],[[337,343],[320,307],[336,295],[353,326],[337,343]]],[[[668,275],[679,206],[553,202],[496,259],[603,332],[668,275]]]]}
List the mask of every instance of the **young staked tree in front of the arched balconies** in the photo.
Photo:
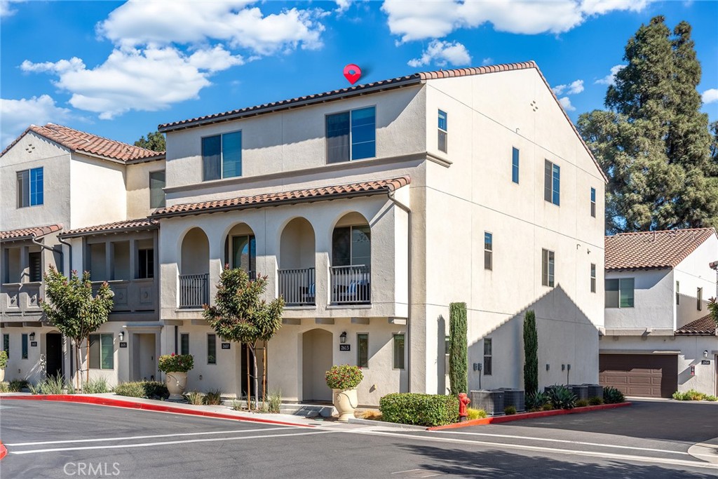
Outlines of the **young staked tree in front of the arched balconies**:
{"type": "MultiPolygon", "coordinates": [[[[215,305],[205,304],[204,317],[221,337],[245,343],[253,356],[255,409],[258,406],[258,373],[256,346],[259,341],[266,343],[279,331],[284,299],[279,297],[266,302],[261,299],[266,289],[266,276],[257,276],[250,281],[243,269],[225,266],[217,285],[215,305]]],[[[266,363],[264,364],[266,371],[266,363]]],[[[250,405],[247,394],[247,405],[250,405]]]]}

